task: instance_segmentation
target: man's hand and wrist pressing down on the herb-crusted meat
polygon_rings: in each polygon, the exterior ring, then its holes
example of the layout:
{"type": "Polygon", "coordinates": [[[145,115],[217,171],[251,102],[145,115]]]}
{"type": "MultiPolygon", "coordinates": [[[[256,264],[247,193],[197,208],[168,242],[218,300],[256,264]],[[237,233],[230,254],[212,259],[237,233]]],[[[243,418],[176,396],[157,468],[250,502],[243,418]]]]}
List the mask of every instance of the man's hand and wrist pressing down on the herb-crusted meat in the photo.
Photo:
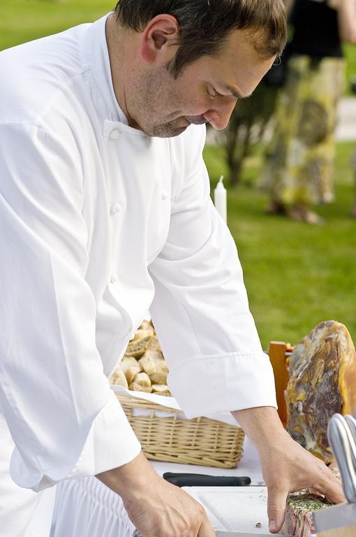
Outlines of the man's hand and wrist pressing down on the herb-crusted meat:
{"type": "Polygon", "coordinates": [[[283,429],[272,407],[237,410],[232,415],[255,443],[268,488],[269,531],[283,526],[289,492],[312,487],[334,503],[346,501],[340,481],[283,429]]]}

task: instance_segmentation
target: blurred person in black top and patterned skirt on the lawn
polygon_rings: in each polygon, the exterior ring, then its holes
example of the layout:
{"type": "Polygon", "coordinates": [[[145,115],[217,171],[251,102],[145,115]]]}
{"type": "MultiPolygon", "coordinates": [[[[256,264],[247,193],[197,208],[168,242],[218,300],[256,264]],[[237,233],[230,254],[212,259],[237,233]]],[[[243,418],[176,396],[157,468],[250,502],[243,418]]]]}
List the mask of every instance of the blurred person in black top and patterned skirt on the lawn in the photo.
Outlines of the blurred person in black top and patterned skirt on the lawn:
{"type": "Polygon", "coordinates": [[[343,87],[343,41],[356,43],[355,0],[288,0],[288,74],[267,151],[267,212],[320,224],[311,204],[334,200],[334,130],[343,87]]]}

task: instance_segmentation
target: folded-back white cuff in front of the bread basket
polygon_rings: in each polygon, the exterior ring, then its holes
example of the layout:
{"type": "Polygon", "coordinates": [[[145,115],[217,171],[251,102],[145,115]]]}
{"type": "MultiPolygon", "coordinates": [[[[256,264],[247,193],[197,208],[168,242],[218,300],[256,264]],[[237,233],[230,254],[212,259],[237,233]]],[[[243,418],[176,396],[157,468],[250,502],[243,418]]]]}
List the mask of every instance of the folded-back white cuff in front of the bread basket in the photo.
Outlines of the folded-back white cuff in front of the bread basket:
{"type": "Polygon", "coordinates": [[[277,408],[272,364],[264,352],[189,358],[172,368],[168,384],[188,418],[260,406],[277,408]]]}

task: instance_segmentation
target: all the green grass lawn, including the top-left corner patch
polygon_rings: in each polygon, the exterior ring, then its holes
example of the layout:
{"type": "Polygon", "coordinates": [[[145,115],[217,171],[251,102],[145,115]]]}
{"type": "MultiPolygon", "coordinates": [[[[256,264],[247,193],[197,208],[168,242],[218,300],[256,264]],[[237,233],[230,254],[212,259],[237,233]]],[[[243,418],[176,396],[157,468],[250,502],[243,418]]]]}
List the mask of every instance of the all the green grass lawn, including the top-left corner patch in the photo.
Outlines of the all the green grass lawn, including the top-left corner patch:
{"type": "MultiPolygon", "coordinates": [[[[0,50],[95,20],[114,7],[107,0],[1,0],[0,50]]],[[[356,74],[356,48],[346,48],[348,76],[356,74]]],[[[353,144],[338,146],[336,203],[320,208],[323,227],[264,213],[265,195],[253,187],[260,158],[251,157],[244,186],[228,193],[228,217],[244,266],[251,310],[262,344],[298,342],[322,320],[345,323],[356,339],[356,222],[349,165],[353,144]]],[[[226,173],[221,148],[207,148],[212,184],[226,173]]]]}

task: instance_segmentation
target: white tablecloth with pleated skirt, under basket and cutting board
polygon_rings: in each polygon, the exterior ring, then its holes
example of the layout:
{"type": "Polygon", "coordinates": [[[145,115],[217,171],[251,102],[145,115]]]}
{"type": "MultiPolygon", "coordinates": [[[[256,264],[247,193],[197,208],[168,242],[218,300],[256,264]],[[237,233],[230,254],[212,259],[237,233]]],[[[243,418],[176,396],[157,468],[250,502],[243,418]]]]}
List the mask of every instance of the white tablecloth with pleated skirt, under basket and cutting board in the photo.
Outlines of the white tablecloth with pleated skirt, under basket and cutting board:
{"type": "MultiPolygon", "coordinates": [[[[258,455],[248,438],[242,460],[232,470],[156,461],[152,466],[160,475],[166,471],[249,475],[252,485],[262,483],[258,455]]],[[[131,537],[132,534],[133,525],[120,497],[96,478],[67,480],[57,485],[51,537],[131,537]]]]}

